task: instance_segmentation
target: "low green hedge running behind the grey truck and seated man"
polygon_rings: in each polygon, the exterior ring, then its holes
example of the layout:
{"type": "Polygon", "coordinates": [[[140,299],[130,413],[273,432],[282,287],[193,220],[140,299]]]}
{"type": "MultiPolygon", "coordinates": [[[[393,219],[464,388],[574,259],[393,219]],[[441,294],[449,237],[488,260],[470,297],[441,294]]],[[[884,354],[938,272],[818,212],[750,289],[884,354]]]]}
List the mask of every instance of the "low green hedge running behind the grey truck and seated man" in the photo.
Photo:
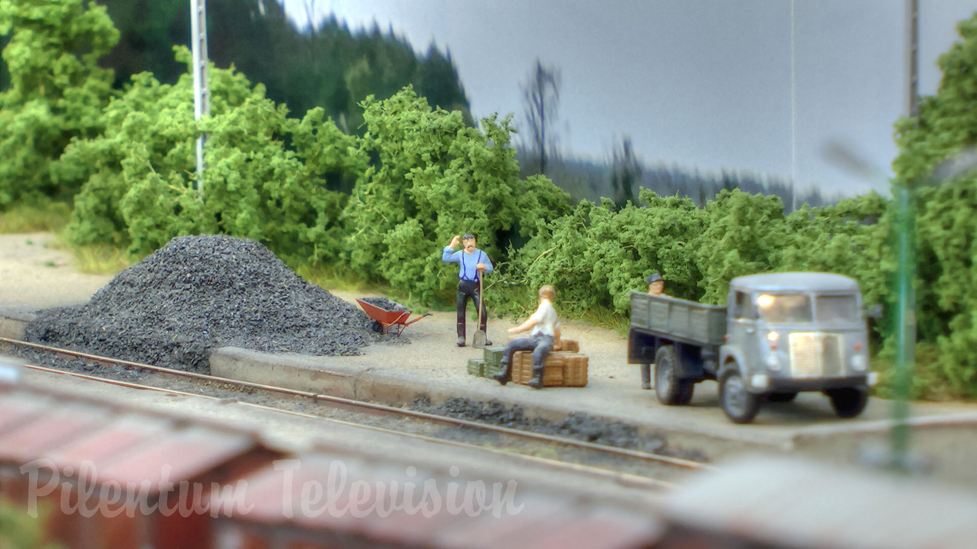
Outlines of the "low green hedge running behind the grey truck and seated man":
{"type": "Polygon", "coordinates": [[[520,248],[513,269],[532,287],[562,288],[562,306],[576,314],[628,314],[628,292],[646,290],[656,272],[669,295],[703,303],[725,303],[736,276],[785,271],[848,274],[866,288],[867,303],[882,299],[885,226],[874,221],[888,202],[878,194],[787,217],[777,196],[741,190],[723,190],[704,208],[647,189],[639,200],[620,209],[610,199],[581,201],[520,248]]]}

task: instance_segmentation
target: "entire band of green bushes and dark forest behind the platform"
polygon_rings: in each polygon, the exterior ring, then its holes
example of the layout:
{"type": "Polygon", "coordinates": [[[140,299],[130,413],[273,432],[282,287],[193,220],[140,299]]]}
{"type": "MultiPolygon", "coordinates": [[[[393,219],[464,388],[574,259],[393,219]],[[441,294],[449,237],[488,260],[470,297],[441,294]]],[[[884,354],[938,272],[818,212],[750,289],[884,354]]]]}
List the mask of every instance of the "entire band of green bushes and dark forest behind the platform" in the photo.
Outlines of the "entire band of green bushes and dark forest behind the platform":
{"type": "MultiPolygon", "coordinates": [[[[270,1],[211,2],[208,20],[211,116],[196,122],[185,0],[0,2],[8,231],[60,212],[55,229],[71,245],[133,258],[176,235],[223,232],[266,244],[300,274],[388,285],[421,307],[453,299],[440,249],[471,231],[500,267],[487,290],[498,314],[522,313],[532,288],[555,283],[563,313],[619,322],[627,292],[656,271],[672,295],[706,303],[722,303],[734,276],[764,271],[849,274],[868,304],[892,297],[884,196],[826,204],[814,191],[790,211],[790,182],[649,166],[626,137],[603,165],[561,158],[544,137],[557,67],[537,62],[514,83],[529,120],[517,134],[512,114],[476,124],[450,55],[433,45],[418,56],[389,30],[335,19],[299,31],[270,1]]],[[[924,178],[974,144],[977,17],[959,30],[938,93],[894,121],[897,178],[924,178]]],[[[975,183],[965,174],[918,191],[918,396],[977,397],[975,183]]],[[[886,322],[872,322],[883,394],[886,322]]]]}

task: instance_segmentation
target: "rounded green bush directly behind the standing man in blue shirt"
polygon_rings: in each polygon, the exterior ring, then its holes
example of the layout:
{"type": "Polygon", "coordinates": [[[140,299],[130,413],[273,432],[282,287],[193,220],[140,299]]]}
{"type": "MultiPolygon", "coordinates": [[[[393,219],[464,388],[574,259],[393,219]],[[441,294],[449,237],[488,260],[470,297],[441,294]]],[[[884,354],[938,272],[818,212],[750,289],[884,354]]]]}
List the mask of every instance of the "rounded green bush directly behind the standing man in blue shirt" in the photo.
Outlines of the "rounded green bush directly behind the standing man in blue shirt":
{"type": "Polygon", "coordinates": [[[459,111],[432,110],[409,86],[388,100],[369,96],[362,107],[360,150],[376,161],[343,212],[344,257],[362,277],[430,306],[457,284],[441,262],[453,235],[475,233],[498,263],[508,239],[569,211],[567,193],[548,179],[519,179],[511,116],[472,128],[459,111]]]}

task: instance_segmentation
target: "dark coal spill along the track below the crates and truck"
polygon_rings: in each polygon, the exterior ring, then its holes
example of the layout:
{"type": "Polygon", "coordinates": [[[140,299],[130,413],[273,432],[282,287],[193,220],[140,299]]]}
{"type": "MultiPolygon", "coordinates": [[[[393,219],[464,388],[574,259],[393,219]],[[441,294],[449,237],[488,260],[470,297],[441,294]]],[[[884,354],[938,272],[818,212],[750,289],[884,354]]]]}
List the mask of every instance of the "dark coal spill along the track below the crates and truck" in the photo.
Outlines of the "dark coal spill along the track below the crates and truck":
{"type": "Polygon", "coordinates": [[[699,450],[669,446],[663,435],[640,437],[637,428],[633,425],[608,421],[585,413],[574,412],[563,421],[553,423],[541,418],[527,418],[522,406],[518,404],[508,407],[500,401],[473,401],[464,397],[448,399],[437,405],[426,398],[420,398],[413,401],[411,408],[545,435],[560,435],[588,443],[606,444],[692,461],[707,461],[705,455],[699,450]]]}

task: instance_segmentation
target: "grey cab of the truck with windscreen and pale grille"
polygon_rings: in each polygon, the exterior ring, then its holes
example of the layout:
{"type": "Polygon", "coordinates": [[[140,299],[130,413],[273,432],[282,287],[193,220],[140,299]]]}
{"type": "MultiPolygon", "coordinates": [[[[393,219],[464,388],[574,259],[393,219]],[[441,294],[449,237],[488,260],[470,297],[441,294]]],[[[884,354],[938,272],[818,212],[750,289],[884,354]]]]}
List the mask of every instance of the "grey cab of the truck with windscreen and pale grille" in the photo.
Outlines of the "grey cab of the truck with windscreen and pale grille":
{"type": "Polygon", "coordinates": [[[841,417],[861,413],[875,382],[862,311],[858,282],[842,274],[734,278],[717,374],[727,414],[749,421],[761,397],[800,391],[824,392],[841,417]]]}

